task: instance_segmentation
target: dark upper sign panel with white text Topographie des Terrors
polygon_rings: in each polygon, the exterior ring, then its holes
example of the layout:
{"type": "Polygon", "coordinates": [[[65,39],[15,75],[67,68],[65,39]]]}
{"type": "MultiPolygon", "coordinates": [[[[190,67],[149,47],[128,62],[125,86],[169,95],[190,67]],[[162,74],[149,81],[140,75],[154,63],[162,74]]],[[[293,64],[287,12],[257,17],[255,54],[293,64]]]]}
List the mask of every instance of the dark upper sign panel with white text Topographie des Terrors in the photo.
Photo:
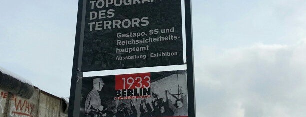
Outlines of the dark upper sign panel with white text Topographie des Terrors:
{"type": "Polygon", "coordinates": [[[181,0],[87,0],[81,71],[183,64],[181,0]]]}

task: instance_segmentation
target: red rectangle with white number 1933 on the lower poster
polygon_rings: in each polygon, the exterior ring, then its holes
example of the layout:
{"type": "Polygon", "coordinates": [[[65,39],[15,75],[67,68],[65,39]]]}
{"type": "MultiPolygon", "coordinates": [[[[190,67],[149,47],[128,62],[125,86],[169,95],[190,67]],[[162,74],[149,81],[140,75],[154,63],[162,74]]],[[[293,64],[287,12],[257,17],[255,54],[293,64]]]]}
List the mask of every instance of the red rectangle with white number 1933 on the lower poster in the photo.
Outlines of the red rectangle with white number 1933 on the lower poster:
{"type": "Polygon", "coordinates": [[[116,75],[116,90],[149,87],[151,87],[150,73],[116,75]]]}

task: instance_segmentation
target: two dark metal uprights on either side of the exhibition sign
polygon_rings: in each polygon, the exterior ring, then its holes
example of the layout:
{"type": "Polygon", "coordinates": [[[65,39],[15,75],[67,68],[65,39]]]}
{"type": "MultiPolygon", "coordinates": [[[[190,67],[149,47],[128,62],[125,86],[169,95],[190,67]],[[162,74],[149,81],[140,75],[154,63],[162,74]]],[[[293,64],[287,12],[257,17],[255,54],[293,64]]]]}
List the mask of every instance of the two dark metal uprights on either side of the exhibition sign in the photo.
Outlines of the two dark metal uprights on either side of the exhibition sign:
{"type": "MultiPolygon", "coordinates": [[[[84,19],[87,0],[78,0],[77,24],[74,45],[74,57],[70,88],[70,101],[68,117],[79,117],[80,100],[83,73],[81,70],[82,46],[84,35],[84,19]]],[[[196,117],[195,87],[194,87],[194,61],[193,61],[193,38],[192,38],[192,5],[191,0],[185,1],[185,34],[187,56],[187,87],[188,87],[188,117],[196,117]]]]}

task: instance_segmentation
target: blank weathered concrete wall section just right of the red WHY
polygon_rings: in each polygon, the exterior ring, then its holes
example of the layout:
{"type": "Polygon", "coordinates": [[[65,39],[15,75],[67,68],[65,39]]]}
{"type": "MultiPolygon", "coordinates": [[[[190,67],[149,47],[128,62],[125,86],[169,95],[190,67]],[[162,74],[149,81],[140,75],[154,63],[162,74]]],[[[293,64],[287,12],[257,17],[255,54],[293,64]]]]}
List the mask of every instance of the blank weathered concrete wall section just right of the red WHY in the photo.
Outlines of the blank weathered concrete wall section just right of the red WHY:
{"type": "Polygon", "coordinates": [[[61,99],[41,91],[39,94],[38,117],[59,117],[61,99]]]}

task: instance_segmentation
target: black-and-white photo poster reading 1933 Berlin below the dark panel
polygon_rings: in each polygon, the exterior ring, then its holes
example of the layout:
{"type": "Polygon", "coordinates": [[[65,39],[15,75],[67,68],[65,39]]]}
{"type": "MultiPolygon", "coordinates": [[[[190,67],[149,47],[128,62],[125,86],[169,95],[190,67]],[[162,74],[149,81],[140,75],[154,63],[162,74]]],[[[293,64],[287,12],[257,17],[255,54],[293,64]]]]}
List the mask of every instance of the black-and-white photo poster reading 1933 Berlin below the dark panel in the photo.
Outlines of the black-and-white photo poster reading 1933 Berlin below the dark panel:
{"type": "Polygon", "coordinates": [[[80,117],[188,117],[186,79],[185,70],[84,78],[80,117]]]}

